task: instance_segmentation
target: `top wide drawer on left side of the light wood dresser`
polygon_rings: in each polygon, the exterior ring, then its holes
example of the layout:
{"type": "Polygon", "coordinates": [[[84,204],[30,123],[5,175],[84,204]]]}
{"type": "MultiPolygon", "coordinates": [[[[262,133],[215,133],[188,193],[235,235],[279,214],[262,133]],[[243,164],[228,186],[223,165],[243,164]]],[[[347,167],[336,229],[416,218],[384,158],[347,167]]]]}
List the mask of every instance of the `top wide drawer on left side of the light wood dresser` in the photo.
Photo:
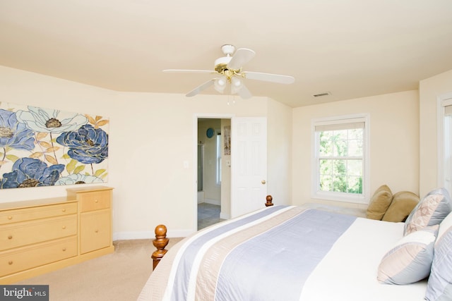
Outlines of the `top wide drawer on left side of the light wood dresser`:
{"type": "Polygon", "coordinates": [[[31,221],[33,219],[45,219],[47,217],[62,216],[77,213],[77,203],[68,202],[64,204],[52,204],[23,209],[11,209],[0,211],[0,225],[7,223],[18,223],[20,221],[31,221]]]}

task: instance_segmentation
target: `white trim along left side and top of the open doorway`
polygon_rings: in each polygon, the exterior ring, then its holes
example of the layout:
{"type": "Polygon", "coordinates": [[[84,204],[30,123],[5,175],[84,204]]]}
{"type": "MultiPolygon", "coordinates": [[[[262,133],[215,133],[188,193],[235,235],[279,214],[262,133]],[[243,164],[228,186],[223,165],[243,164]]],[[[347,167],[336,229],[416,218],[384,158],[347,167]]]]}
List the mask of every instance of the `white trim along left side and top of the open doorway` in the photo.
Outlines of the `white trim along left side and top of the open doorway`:
{"type": "Polygon", "coordinates": [[[231,119],[235,117],[234,114],[225,113],[194,113],[193,115],[193,194],[192,204],[194,204],[194,224],[193,232],[198,231],[198,119],[199,118],[217,118],[217,119],[231,119]]]}

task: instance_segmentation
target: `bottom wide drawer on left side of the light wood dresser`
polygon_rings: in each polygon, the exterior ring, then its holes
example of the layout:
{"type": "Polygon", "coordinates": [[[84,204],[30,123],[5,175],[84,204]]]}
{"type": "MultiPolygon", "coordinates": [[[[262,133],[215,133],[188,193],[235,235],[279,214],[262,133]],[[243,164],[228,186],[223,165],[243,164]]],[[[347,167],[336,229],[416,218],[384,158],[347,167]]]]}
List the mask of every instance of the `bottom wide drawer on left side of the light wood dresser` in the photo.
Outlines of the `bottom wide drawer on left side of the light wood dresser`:
{"type": "Polygon", "coordinates": [[[0,276],[25,271],[77,255],[77,237],[0,252],[0,276]]]}

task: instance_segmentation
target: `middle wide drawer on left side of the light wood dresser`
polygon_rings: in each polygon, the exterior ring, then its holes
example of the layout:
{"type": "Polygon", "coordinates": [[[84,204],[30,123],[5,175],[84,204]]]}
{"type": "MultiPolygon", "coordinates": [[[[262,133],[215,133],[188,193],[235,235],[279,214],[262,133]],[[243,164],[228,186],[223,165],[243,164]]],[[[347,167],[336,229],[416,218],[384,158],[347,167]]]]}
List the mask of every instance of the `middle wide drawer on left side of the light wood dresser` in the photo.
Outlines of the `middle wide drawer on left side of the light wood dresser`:
{"type": "Polygon", "coordinates": [[[0,251],[77,234],[77,214],[0,226],[0,251]]]}

